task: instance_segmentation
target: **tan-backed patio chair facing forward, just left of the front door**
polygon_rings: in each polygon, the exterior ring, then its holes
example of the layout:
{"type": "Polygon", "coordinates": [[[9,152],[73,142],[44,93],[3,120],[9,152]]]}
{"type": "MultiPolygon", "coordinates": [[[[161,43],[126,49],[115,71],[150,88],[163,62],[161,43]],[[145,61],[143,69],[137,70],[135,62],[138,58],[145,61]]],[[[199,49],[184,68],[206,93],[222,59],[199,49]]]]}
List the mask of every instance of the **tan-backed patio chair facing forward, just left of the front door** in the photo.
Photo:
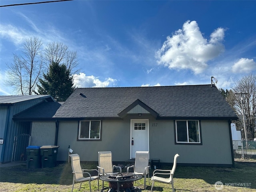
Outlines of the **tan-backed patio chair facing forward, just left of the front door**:
{"type": "MultiPolygon", "coordinates": [[[[99,166],[98,167],[98,176],[122,173],[122,168],[120,166],[115,166],[112,164],[112,152],[111,151],[99,151],[99,166]],[[119,171],[114,172],[114,169],[117,168],[119,171]]],[[[102,189],[104,188],[104,181],[102,180],[102,189]]]]}

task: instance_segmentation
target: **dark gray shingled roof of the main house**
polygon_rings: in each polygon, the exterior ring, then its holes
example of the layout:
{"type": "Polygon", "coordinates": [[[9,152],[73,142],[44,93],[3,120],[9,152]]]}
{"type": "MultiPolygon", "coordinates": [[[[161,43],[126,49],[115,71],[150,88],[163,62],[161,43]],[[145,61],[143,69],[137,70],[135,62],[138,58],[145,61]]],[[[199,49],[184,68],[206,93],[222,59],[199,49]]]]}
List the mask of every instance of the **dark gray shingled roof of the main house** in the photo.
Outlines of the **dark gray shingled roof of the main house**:
{"type": "Polygon", "coordinates": [[[57,110],[56,118],[120,118],[136,100],[157,118],[237,119],[213,85],[76,88],[57,110]]]}

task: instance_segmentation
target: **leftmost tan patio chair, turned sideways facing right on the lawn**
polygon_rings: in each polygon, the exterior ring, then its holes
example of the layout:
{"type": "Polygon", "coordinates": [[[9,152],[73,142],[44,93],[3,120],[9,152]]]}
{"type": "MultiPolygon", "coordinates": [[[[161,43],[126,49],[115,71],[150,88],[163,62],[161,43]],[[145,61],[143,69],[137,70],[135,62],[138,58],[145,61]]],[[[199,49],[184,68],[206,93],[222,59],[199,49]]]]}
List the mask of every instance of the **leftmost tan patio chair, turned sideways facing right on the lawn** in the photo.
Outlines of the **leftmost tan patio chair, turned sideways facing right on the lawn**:
{"type": "Polygon", "coordinates": [[[72,190],[73,192],[74,189],[74,184],[75,182],[80,182],[79,190],[81,188],[82,182],[88,181],[89,186],[90,186],[90,192],[92,192],[91,189],[91,181],[97,179],[98,180],[98,190],[99,190],[99,176],[91,176],[89,172],[84,172],[84,171],[97,171],[97,169],[82,169],[81,164],[80,164],[80,156],[78,154],[70,154],[69,155],[71,158],[71,166],[73,170],[73,185],[72,185],[72,190]],[[88,175],[87,177],[84,177],[84,174],[88,175]]]}

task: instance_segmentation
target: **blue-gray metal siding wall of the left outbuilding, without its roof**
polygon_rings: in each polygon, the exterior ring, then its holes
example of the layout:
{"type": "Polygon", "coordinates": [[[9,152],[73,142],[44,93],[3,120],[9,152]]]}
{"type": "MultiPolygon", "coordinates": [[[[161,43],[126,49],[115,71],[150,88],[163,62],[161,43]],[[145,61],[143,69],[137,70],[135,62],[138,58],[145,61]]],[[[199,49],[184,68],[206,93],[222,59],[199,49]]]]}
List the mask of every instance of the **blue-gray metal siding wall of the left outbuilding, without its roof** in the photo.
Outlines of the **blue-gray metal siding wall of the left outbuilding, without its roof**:
{"type": "MultiPolygon", "coordinates": [[[[10,162],[12,161],[12,152],[14,148],[14,136],[20,134],[30,134],[30,122],[14,122],[12,117],[22,112],[23,110],[34,106],[40,102],[44,101],[43,98],[38,98],[35,100],[27,100],[24,102],[15,103],[14,105],[8,106],[7,110],[4,106],[1,106],[1,123],[2,117],[5,116],[3,122],[4,126],[4,144],[1,146],[1,162],[10,162]],[[6,114],[6,115],[5,115],[6,114]]],[[[1,126],[1,136],[2,136],[2,126],[1,126]]]]}

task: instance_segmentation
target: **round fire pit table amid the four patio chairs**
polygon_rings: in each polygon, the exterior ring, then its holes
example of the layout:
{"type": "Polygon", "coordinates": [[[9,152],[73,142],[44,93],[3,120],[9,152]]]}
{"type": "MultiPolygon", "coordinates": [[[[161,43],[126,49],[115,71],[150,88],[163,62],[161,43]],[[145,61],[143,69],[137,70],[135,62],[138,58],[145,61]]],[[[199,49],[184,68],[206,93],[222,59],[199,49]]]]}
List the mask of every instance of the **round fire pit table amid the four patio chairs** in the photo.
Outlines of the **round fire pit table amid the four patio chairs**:
{"type": "MultiPolygon", "coordinates": [[[[103,175],[100,177],[103,181],[108,181],[108,192],[138,192],[139,188],[133,186],[133,182],[141,179],[141,175],[134,173],[115,173],[110,175],[103,175]]],[[[107,188],[102,189],[102,192],[107,188]]]]}

